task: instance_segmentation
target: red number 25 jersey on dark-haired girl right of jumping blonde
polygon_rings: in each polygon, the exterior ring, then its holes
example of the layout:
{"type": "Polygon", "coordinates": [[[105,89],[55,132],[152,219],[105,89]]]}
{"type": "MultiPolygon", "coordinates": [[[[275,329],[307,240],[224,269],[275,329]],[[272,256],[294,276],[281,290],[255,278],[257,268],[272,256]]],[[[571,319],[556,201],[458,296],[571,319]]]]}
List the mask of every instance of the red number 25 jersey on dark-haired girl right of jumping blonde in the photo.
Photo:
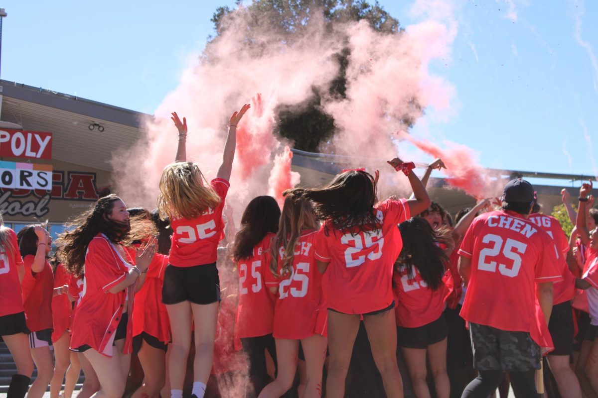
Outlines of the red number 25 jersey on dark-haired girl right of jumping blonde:
{"type": "MultiPolygon", "coordinates": [[[[265,336],[272,332],[276,297],[266,287],[270,271],[270,242],[273,233],[253,249],[249,258],[239,260],[239,306],[235,338],[265,336]]],[[[270,274],[270,275],[269,275],[270,274]]]]}

